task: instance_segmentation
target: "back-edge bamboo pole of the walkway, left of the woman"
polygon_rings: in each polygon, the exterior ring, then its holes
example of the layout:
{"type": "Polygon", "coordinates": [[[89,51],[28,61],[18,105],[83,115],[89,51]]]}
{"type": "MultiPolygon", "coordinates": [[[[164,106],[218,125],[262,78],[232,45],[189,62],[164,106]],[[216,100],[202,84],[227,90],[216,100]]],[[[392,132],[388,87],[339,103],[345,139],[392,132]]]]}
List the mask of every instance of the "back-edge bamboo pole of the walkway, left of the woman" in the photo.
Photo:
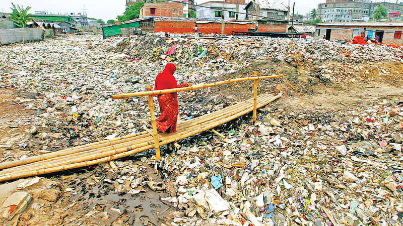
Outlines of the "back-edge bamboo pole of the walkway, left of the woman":
{"type": "Polygon", "coordinates": [[[99,141],[96,143],[91,143],[91,144],[86,144],[86,145],[82,145],[82,146],[78,146],[78,147],[72,147],[72,148],[68,148],[68,149],[63,149],[57,152],[52,152],[52,153],[47,153],[47,154],[43,154],[43,155],[37,155],[37,156],[32,156],[32,157],[28,157],[25,159],[19,159],[19,160],[14,160],[14,161],[10,161],[10,162],[3,162],[0,163],[0,169],[5,169],[5,168],[10,168],[13,166],[18,166],[18,165],[24,165],[24,164],[29,164],[32,162],[37,162],[37,161],[41,161],[41,160],[45,160],[45,159],[50,159],[53,157],[57,157],[57,156],[62,156],[65,153],[68,154],[72,154],[72,153],[77,153],[80,151],[85,151],[85,150],[90,150],[91,147],[93,146],[108,146],[110,145],[110,143],[119,141],[119,140],[123,140],[123,139],[128,139],[128,138],[132,138],[132,137],[136,137],[136,136],[141,136],[146,134],[147,132],[140,132],[140,133],[135,133],[135,134],[130,134],[130,135],[126,135],[120,138],[114,138],[111,140],[104,140],[104,141],[99,141]]]}

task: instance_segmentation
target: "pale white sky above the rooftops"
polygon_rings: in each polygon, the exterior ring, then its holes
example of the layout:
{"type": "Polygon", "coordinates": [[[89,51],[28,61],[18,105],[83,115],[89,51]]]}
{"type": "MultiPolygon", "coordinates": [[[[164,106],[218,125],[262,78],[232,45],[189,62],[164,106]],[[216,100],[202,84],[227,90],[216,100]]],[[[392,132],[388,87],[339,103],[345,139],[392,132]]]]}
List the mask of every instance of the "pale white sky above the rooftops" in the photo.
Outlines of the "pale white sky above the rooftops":
{"type": "MultiPolygon", "coordinates": [[[[208,0],[196,0],[197,3],[207,2],[208,0]]],[[[386,0],[390,2],[392,0],[386,0]]],[[[10,13],[11,3],[23,5],[24,7],[30,6],[32,9],[29,13],[33,14],[35,11],[47,11],[50,13],[81,13],[85,8],[88,17],[107,20],[116,19],[117,15],[122,15],[125,8],[125,0],[70,0],[70,1],[55,1],[55,0],[0,0],[0,11],[10,13]]],[[[269,0],[269,2],[282,2],[288,6],[288,0],[269,0]]],[[[304,1],[290,1],[292,8],[295,2],[295,14],[307,14],[312,9],[317,8],[319,3],[325,3],[325,0],[304,0],[304,1]]],[[[373,1],[373,2],[383,2],[373,1]]],[[[394,2],[394,1],[392,1],[394,2]]]]}

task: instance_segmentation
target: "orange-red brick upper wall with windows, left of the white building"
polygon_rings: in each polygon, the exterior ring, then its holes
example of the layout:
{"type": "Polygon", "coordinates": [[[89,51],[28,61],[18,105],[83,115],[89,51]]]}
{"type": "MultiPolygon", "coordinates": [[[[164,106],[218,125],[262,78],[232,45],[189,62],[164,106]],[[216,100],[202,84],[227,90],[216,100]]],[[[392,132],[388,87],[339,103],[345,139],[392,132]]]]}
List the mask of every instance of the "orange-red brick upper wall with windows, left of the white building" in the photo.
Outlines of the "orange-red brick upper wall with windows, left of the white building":
{"type": "MultiPolygon", "coordinates": [[[[146,3],[140,8],[140,17],[159,16],[173,17],[173,9],[179,10],[179,17],[183,15],[183,5],[181,3],[146,3]],[[155,14],[150,13],[150,8],[155,8],[155,14]]],[[[177,17],[177,16],[175,16],[177,17]]]]}

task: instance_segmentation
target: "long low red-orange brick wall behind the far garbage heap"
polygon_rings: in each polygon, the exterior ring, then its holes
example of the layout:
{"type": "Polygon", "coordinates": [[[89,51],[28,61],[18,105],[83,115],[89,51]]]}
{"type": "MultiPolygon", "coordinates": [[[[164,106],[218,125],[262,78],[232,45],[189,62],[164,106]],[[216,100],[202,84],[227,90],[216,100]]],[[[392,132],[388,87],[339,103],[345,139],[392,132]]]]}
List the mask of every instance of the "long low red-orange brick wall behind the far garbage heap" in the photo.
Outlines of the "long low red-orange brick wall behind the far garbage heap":
{"type": "MultiPolygon", "coordinates": [[[[192,29],[194,26],[195,22],[193,21],[155,21],[154,32],[189,34],[193,33],[192,29]]],[[[202,34],[215,32],[221,34],[221,23],[197,24],[197,27],[202,34]]],[[[254,27],[254,24],[226,23],[224,26],[224,34],[231,35],[233,31],[248,31],[248,29],[254,29],[254,27]]]]}

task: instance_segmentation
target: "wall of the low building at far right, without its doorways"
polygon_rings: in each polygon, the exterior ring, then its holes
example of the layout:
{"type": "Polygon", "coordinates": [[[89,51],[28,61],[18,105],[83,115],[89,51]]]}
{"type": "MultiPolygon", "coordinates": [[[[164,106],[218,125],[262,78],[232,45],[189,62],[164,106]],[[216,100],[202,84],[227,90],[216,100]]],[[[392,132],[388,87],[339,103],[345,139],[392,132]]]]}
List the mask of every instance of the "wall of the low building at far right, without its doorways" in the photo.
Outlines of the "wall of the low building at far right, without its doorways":
{"type": "MultiPolygon", "coordinates": [[[[383,39],[382,43],[385,44],[392,44],[392,45],[403,45],[403,35],[399,39],[394,38],[394,32],[395,31],[402,31],[403,32],[403,26],[401,27],[388,27],[388,26],[365,26],[367,28],[367,31],[374,31],[371,39],[375,37],[375,31],[383,31],[383,39]]],[[[363,26],[351,26],[348,27],[348,29],[343,29],[343,28],[331,28],[331,27],[316,27],[316,29],[319,29],[320,33],[317,35],[317,30],[315,32],[315,39],[323,38],[324,35],[326,35],[326,29],[331,29],[330,33],[330,40],[352,40],[355,35],[359,35],[357,32],[361,31],[364,29],[363,26]],[[354,32],[356,31],[356,32],[354,32]]]]}

